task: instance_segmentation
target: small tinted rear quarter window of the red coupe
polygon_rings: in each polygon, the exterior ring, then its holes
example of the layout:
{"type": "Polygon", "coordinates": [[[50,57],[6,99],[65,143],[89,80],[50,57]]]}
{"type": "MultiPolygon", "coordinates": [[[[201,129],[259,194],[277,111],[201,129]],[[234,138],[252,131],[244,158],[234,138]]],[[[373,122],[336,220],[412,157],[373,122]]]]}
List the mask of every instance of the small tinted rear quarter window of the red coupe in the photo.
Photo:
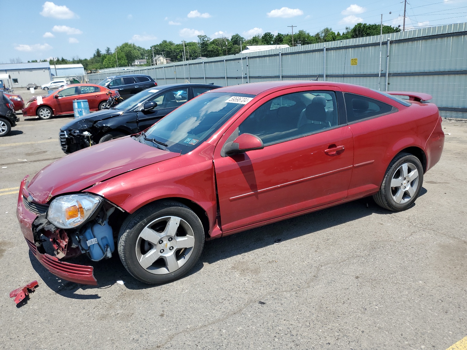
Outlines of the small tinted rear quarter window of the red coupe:
{"type": "Polygon", "coordinates": [[[347,123],[391,112],[393,107],[373,98],[345,93],[347,123]]]}

